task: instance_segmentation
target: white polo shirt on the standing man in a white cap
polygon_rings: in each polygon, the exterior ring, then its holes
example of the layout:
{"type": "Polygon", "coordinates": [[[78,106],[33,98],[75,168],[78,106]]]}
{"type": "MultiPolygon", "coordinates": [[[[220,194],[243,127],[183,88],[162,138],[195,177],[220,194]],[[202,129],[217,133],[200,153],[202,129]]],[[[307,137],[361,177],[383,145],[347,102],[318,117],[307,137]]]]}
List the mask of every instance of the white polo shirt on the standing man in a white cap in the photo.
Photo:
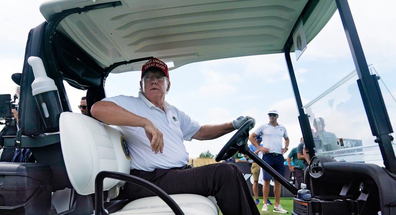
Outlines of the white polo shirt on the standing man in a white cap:
{"type": "Polygon", "coordinates": [[[269,148],[270,153],[282,153],[283,138],[288,137],[286,127],[279,124],[274,127],[271,123],[266,123],[257,127],[254,131],[257,135],[261,133],[263,147],[269,148]]]}

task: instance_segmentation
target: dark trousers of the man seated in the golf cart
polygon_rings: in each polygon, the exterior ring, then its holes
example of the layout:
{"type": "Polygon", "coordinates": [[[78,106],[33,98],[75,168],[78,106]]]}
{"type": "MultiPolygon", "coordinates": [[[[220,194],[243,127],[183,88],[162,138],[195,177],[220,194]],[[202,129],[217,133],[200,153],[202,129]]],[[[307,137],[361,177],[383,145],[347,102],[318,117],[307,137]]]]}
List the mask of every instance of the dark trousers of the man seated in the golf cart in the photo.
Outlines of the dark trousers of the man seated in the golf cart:
{"type": "MultiPolygon", "coordinates": [[[[131,174],[154,183],[168,194],[215,196],[225,215],[260,214],[242,172],[233,163],[214,163],[189,169],[132,169],[131,174]]],[[[152,195],[147,189],[128,183],[119,198],[133,200],[152,195]]]]}

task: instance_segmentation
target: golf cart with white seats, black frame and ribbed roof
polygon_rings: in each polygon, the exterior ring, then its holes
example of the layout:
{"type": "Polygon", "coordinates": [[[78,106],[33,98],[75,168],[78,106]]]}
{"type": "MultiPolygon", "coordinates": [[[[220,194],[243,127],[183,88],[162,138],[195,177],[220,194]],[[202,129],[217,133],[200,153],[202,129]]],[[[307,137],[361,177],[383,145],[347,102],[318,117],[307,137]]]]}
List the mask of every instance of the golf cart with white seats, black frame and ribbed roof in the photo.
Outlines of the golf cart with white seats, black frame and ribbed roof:
{"type": "MultiPolygon", "coordinates": [[[[92,117],[72,113],[64,84],[86,90],[89,110],[106,97],[107,78],[140,70],[153,56],[172,62],[175,69],[207,60],[284,53],[296,117],[311,157],[305,181],[312,198],[296,197],[293,214],[396,214],[393,130],[378,76],[370,73],[346,0],[54,0],[40,10],[46,21],[30,31],[26,46],[20,129],[16,136],[4,137],[6,147],[30,148],[37,162],[2,163],[0,213],[49,214],[53,205],[60,214],[217,214],[211,198],[169,196],[129,175],[130,157],[122,135],[92,117]],[[360,118],[367,124],[348,134],[342,133],[344,126],[331,126],[331,114],[340,111],[328,111],[321,103],[334,96],[330,91],[303,104],[291,59],[292,52],[304,51],[305,43],[337,9],[355,66],[345,79],[355,81],[364,107],[360,118]],[[344,137],[336,140],[336,148],[319,149],[315,144],[324,139],[312,131],[315,116],[325,118],[326,128],[344,137]],[[159,197],[112,200],[125,181],[159,197]],[[64,202],[69,207],[59,209],[64,202]]],[[[237,131],[217,159],[248,154],[297,194],[288,180],[248,149],[247,127],[237,131]]]]}

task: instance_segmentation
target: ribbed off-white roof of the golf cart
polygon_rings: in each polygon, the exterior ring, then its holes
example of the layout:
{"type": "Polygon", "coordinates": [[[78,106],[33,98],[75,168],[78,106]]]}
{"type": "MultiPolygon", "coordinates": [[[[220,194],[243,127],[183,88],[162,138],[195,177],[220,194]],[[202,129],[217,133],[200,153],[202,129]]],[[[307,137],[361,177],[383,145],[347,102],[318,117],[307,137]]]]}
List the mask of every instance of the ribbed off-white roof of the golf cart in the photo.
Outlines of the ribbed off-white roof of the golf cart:
{"type": "Polygon", "coordinates": [[[302,18],[306,41],[336,11],[311,0],[54,0],[40,11],[107,72],[140,70],[141,58],[173,67],[205,60],[284,52],[302,18]],[[132,60],[132,61],[131,61],[132,60]],[[115,66],[116,65],[116,66],[115,66]]]}

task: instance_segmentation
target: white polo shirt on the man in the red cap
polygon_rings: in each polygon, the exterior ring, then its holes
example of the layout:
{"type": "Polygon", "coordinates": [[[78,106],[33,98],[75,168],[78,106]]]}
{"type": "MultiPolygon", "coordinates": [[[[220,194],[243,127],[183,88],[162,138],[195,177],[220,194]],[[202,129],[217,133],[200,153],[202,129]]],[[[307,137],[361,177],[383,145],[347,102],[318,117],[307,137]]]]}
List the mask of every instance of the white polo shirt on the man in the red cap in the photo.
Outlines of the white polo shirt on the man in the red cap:
{"type": "Polygon", "coordinates": [[[183,111],[165,101],[165,112],[152,104],[141,92],[138,97],[118,95],[102,99],[112,101],[126,110],[150,120],[163,134],[163,153],[151,151],[150,141],[142,127],[117,126],[128,143],[131,169],[153,171],[188,163],[183,140],[190,141],[201,125],[183,111]]]}

